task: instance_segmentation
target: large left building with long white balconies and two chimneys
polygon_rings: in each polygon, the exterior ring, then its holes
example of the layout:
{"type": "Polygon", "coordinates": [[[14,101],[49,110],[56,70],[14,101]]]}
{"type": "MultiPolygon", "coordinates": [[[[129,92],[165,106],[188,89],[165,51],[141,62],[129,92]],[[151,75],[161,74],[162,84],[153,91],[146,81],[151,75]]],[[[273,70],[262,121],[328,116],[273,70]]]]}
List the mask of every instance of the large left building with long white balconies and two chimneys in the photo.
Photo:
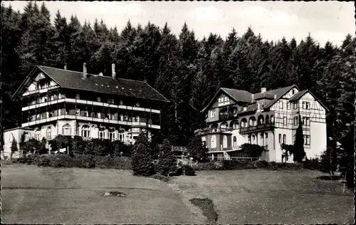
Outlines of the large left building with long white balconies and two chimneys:
{"type": "MultiPolygon", "coordinates": [[[[21,135],[121,140],[133,144],[142,130],[160,129],[160,108],[169,101],[144,81],[35,66],[12,98],[21,99],[21,127],[4,131],[4,155],[21,135]]],[[[16,155],[14,155],[16,157],[16,155]]]]}

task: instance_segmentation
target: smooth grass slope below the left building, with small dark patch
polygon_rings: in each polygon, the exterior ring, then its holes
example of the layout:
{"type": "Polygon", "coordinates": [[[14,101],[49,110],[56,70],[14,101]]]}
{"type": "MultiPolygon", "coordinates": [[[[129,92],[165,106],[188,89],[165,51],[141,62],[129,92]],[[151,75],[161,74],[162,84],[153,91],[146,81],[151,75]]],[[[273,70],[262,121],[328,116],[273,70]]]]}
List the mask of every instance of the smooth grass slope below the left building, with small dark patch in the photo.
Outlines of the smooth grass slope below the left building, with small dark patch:
{"type": "Polygon", "coordinates": [[[204,223],[167,184],[125,170],[3,164],[1,186],[6,224],[204,223]],[[103,197],[108,190],[127,197],[103,197]]]}

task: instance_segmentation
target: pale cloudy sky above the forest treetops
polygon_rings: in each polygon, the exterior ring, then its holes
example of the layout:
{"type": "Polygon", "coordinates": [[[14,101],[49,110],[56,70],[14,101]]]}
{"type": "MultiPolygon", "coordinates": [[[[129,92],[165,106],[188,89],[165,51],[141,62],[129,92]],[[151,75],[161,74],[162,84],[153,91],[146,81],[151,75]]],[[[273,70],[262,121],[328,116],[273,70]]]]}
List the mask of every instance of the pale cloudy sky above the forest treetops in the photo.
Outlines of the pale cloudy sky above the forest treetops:
{"type": "MultiPolygon", "coordinates": [[[[3,1],[23,11],[27,1],[3,1]]],[[[36,1],[41,6],[42,1],[36,1]]],[[[232,28],[238,35],[251,26],[263,40],[278,41],[283,36],[298,42],[312,36],[320,45],[326,41],[340,46],[347,33],[355,36],[355,5],[352,1],[45,1],[53,20],[56,11],[67,19],[103,19],[120,32],[130,19],[132,25],[148,21],[162,28],[165,22],[179,35],[184,22],[197,38],[220,34],[225,38],[232,28]]]]}

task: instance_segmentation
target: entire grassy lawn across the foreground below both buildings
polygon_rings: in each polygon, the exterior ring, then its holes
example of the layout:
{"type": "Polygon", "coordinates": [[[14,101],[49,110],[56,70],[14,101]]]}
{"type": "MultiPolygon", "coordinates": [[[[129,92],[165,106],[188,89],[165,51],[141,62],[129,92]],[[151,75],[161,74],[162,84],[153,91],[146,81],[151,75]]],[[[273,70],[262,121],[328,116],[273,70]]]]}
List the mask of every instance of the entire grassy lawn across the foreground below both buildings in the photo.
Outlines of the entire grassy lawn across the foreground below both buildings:
{"type": "Polygon", "coordinates": [[[199,171],[168,184],[130,170],[1,165],[7,224],[205,224],[191,199],[211,199],[218,224],[350,224],[353,193],[310,170],[199,171]],[[119,191],[127,197],[104,197],[119,191]]]}

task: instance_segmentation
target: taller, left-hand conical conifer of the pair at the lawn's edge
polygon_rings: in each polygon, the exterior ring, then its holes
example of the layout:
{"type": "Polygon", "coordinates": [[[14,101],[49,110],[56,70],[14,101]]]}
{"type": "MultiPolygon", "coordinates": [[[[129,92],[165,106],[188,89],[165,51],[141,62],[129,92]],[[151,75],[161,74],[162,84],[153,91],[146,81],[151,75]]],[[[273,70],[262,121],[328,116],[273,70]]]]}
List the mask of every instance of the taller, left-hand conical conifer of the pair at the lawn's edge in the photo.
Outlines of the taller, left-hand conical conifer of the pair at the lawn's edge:
{"type": "Polygon", "coordinates": [[[152,160],[152,150],[150,142],[145,132],[138,135],[132,150],[131,164],[134,175],[149,177],[155,174],[155,167],[152,160]]]}

